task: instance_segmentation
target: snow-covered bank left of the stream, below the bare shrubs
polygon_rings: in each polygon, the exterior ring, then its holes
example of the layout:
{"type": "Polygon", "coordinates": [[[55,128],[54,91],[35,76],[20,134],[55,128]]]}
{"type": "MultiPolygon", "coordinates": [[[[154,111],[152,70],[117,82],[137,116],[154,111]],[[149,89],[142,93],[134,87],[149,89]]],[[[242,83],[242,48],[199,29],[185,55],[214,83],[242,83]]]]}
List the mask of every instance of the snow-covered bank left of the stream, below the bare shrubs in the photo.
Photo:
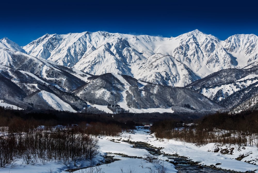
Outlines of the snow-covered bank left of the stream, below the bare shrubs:
{"type": "Polygon", "coordinates": [[[157,172],[161,169],[166,169],[167,172],[176,173],[178,172],[175,169],[175,166],[166,161],[166,157],[162,155],[158,158],[160,159],[159,162],[150,163],[147,162],[140,157],[145,157],[145,154],[148,154],[148,151],[145,149],[137,149],[133,148],[131,144],[126,142],[119,142],[119,141],[111,141],[110,136],[102,136],[99,138],[99,155],[91,160],[79,160],[76,162],[76,166],[74,167],[74,163],[71,162],[68,165],[63,164],[61,161],[42,161],[38,160],[37,162],[30,163],[26,165],[22,159],[18,159],[15,163],[15,166],[12,167],[11,165],[1,168],[0,172],[4,173],[30,173],[30,172],[39,172],[39,173],[61,173],[65,172],[67,169],[71,168],[83,168],[83,167],[90,167],[86,169],[75,169],[74,172],[82,173],[93,173],[96,172],[98,169],[98,173],[120,173],[121,169],[124,172],[157,172]],[[97,164],[104,161],[105,155],[114,156],[114,159],[119,159],[115,162],[96,166],[97,164]],[[121,156],[123,155],[123,157],[121,156]]]}

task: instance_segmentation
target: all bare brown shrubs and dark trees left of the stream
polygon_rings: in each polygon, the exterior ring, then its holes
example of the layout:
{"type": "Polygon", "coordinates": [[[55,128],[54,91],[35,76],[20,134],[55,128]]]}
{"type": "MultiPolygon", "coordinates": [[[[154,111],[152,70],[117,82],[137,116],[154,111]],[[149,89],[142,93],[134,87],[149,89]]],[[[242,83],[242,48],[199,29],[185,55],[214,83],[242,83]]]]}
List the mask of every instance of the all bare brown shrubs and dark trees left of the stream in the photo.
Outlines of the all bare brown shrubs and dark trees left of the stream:
{"type": "Polygon", "coordinates": [[[98,135],[119,136],[133,121],[63,111],[0,107],[0,167],[60,161],[76,164],[98,154],[98,135]]]}

